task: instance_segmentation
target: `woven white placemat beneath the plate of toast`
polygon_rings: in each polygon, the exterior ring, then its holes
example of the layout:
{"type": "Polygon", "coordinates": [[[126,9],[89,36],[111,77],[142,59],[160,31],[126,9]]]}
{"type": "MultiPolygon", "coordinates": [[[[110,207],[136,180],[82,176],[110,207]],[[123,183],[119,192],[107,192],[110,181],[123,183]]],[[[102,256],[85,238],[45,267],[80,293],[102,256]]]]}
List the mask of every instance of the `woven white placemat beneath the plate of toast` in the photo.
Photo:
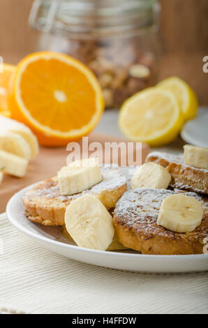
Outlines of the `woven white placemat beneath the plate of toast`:
{"type": "Polygon", "coordinates": [[[0,313],[208,313],[208,274],[95,267],[38,246],[0,216],[0,313]]]}

